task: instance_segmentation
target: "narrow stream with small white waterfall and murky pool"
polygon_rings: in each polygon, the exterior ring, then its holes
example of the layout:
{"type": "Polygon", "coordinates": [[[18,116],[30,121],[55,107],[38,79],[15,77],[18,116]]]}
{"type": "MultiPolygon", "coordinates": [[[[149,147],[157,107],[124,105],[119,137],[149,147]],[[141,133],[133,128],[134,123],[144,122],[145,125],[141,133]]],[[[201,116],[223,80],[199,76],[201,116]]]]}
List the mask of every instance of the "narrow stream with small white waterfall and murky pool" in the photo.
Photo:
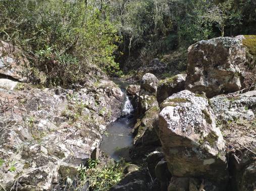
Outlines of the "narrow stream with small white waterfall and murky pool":
{"type": "MultiPolygon", "coordinates": [[[[120,80],[113,80],[125,92],[127,83],[120,80]]],[[[133,107],[128,96],[125,94],[125,101],[122,109],[122,116],[115,122],[108,125],[103,135],[103,141],[99,148],[109,154],[115,160],[120,158],[129,159],[129,147],[133,144],[131,130],[133,128],[133,107]]]]}

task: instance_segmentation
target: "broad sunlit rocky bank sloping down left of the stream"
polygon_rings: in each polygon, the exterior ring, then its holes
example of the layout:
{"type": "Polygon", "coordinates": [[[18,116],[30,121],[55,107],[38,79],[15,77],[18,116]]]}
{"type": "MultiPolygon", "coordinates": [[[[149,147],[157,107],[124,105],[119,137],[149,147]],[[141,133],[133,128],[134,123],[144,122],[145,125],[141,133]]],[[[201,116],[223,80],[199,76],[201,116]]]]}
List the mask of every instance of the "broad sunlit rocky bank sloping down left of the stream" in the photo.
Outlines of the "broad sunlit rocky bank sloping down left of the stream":
{"type": "Polygon", "coordinates": [[[122,98],[110,81],[76,91],[20,82],[0,89],[1,185],[9,190],[17,180],[18,190],[61,190],[63,174],[76,176],[62,169],[77,173],[99,146],[104,124],[121,115],[122,98]]]}

